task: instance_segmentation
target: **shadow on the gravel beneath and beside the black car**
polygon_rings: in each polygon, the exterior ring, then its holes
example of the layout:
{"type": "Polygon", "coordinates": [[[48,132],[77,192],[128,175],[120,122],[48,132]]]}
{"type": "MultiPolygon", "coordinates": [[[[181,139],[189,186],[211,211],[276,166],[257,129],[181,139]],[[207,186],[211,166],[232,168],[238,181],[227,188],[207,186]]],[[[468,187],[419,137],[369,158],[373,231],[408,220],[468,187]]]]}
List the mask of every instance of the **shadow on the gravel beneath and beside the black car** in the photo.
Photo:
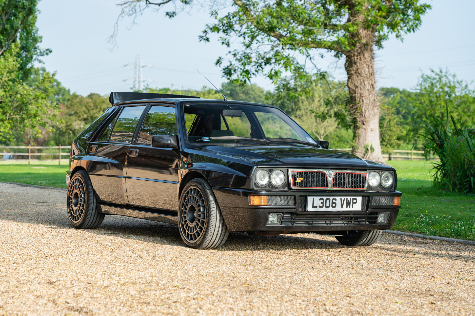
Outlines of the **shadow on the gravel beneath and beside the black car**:
{"type": "MultiPolygon", "coordinates": [[[[51,208],[58,208],[53,203],[32,203],[31,206],[38,207],[35,211],[0,211],[0,219],[15,221],[19,223],[28,224],[42,224],[50,226],[51,229],[72,229],[66,215],[66,211],[51,210],[51,208]],[[48,208],[45,210],[45,208],[48,208]]],[[[104,222],[97,229],[84,230],[87,233],[105,236],[115,236],[124,239],[140,240],[153,244],[166,244],[185,247],[181,241],[176,225],[165,224],[159,222],[152,222],[132,217],[111,216],[107,215],[104,222]]],[[[259,237],[248,235],[247,233],[230,233],[226,244],[224,244],[218,251],[261,251],[261,250],[285,250],[285,249],[346,249],[353,248],[339,244],[336,239],[323,240],[320,235],[311,234],[309,237],[303,235],[276,235],[271,237],[259,237]]],[[[323,237],[323,236],[322,236],[323,237]]],[[[323,237],[325,238],[325,237],[323,237]]],[[[331,237],[333,238],[333,237],[331,237]]],[[[454,258],[452,251],[456,251],[455,244],[438,244],[427,241],[411,240],[407,245],[418,249],[401,249],[398,245],[386,243],[385,238],[371,247],[377,247],[382,251],[386,251],[389,255],[395,257],[404,257],[407,255],[424,255],[437,258],[454,258]],[[440,253],[440,251],[449,253],[440,253]],[[452,249],[453,248],[453,249],[452,249]],[[434,253],[433,251],[437,251],[434,253]]],[[[364,249],[365,247],[355,247],[364,249]]],[[[464,258],[467,259],[467,258],[464,258]]],[[[473,260],[470,258],[469,260],[473,260]]]]}

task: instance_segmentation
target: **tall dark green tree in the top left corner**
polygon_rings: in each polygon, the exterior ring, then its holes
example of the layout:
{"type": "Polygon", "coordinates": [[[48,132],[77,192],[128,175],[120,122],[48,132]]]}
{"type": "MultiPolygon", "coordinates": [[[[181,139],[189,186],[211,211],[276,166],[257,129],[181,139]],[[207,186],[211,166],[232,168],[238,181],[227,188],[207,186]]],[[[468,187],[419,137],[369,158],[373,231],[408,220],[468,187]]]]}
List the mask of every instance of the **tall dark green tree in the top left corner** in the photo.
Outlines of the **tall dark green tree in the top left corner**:
{"type": "Polygon", "coordinates": [[[26,79],[31,64],[39,61],[39,56],[51,53],[50,49],[40,49],[41,36],[36,27],[38,0],[0,0],[0,56],[13,43],[20,42],[19,78],[26,79]]]}

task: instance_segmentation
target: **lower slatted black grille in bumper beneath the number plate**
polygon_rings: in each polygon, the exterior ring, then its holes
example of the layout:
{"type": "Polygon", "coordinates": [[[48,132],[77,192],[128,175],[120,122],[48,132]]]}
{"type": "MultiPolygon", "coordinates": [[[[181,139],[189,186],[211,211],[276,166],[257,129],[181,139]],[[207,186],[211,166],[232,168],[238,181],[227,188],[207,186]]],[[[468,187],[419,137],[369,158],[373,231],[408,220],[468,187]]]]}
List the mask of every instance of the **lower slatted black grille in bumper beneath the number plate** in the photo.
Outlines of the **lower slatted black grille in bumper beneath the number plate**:
{"type": "Polygon", "coordinates": [[[355,226],[376,224],[377,212],[365,215],[291,215],[284,214],[282,226],[355,226]]]}

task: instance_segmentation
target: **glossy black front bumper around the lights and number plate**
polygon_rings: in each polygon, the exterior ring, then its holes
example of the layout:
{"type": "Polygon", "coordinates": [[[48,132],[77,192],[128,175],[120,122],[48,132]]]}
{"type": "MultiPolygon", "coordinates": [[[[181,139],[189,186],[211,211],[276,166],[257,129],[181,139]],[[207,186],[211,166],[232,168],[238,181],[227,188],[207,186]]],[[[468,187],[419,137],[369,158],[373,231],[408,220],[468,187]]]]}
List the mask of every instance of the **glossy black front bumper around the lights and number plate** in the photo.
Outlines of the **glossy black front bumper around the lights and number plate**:
{"type": "Polygon", "coordinates": [[[390,229],[398,216],[399,206],[373,206],[375,196],[401,196],[399,191],[256,191],[213,188],[229,231],[320,232],[338,235],[339,231],[390,229]],[[250,206],[249,195],[294,196],[292,206],[250,206]],[[306,211],[307,196],[363,197],[361,211],[306,211]],[[279,225],[268,225],[269,213],[281,213],[279,225]],[[377,224],[379,213],[389,213],[386,223],[377,224]]]}

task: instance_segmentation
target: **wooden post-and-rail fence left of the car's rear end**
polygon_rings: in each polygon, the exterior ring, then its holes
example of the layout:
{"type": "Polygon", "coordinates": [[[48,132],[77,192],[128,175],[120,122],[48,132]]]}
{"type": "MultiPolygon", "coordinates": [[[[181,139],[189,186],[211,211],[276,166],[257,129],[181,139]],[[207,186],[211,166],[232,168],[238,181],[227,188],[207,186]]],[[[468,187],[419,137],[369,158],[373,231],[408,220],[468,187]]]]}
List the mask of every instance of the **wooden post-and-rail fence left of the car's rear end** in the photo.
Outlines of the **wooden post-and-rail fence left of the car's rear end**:
{"type": "MultiPolygon", "coordinates": [[[[32,157],[38,157],[35,160],[45,160],[45,161],[50,161],[50,160],[57,160],[58,164],[61,163],[61,157],[62,156],[68,156],[69,157],[69,151],[71,150],[71,146],[0,146],[0,156],[3,158],[5,155],[13,156],[13,159],[19,160],[19,159],[28,159],[28,164],[30,164],[30,161],[32,160],[32,157]],[[16,153],[11,152],[12,149],[20,149],[24,151],[23,153],[16,153]],[[27,152],[28,149],[28,152],[27,152]],[[39,149],[39,150],[38,150],[39,149]],[[55,150],[56,149],[56,150],[55,150]],[[63,150],[67,149],[67,153],[63,153],[63,150]],[[8,150],[8,151],[7,151],[8,150]],[[45,152],[46,150],[46,152],[45,152]],[[40,152],[39,152],[40,151],[40,152]],[[16,156],[16,157],[15,157],[16,156]],[[52,156],[55,157],[57,156],[57,159],[42,159],[43,156],[52,156]]],[[[11,158],[10,158],[11,159],[11,158]]]]}

